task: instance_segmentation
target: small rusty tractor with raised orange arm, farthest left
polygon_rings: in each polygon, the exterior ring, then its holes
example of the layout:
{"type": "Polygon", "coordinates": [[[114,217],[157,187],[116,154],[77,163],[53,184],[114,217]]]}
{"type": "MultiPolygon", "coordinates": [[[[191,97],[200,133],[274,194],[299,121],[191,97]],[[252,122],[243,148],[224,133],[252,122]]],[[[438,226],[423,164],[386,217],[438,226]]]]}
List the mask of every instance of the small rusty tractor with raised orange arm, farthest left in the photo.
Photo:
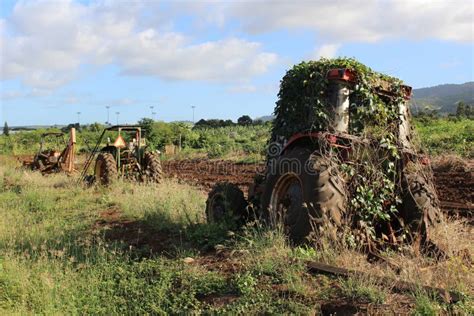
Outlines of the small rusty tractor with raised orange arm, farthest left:
{"type": "Polygon", "coordinates": [[[67,142],[62,132],[48,132],[41,134],[38,152],[29,163],[32,170],[42,174],[53,172],[72,172],[74,170],[74,144],[76,143],[75,129],[71,129],[70,139],[67,142]],[[55,148],[46,149],[46,143],[55,144],[55,148]],[[63,150],[58,148],[64,147],[63,150]]]}

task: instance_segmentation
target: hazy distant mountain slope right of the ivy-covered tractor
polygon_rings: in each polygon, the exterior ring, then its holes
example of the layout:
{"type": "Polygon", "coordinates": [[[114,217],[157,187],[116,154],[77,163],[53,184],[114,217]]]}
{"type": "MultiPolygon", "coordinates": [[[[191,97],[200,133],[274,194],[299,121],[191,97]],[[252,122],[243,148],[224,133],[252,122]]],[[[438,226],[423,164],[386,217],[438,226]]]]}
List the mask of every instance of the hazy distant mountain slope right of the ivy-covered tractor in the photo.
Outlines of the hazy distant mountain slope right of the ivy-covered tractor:
{"type": "Polygon", "coordinates": [[[440,113],[455,113],[459,101],[474,104],[474,82],[414,89],[411,103],[414,112],[430,108],[440,113]]]}

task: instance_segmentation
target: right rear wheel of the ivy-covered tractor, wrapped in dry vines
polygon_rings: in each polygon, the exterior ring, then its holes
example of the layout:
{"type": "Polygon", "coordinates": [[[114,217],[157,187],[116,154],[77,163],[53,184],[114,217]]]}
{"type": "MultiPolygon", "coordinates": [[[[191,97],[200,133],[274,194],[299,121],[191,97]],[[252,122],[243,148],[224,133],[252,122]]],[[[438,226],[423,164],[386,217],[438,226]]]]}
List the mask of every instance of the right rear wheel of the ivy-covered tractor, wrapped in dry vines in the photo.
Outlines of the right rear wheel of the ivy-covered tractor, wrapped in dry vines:
{"type": "Polygon", "coordinates": [[[407,172],[403,179],[403,204],[400,215],[413,240],[429,237],[429,228],[442,220],[437,193],[430,181],[417,172],[407,172]],[[430,185],[431,184],[431,185],[430,185]],[[417,236],[418,235],[418,236],[417,236]]]}

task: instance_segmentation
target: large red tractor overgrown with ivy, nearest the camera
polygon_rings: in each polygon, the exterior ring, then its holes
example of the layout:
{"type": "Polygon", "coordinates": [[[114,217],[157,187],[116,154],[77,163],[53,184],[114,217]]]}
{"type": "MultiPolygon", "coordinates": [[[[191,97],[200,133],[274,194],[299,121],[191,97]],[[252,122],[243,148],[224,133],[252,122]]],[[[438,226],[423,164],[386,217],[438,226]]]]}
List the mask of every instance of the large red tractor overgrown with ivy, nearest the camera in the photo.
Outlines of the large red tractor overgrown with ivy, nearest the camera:
{"type": "Polygon", "coordinates": [[[265,172],[247,199],[217,184],[208,221],[256,218],[294,243],[429,242],[442,216],[410,126],[410,87],[353,59],[321,59],[289,70],[278,97],[265,172]]]}

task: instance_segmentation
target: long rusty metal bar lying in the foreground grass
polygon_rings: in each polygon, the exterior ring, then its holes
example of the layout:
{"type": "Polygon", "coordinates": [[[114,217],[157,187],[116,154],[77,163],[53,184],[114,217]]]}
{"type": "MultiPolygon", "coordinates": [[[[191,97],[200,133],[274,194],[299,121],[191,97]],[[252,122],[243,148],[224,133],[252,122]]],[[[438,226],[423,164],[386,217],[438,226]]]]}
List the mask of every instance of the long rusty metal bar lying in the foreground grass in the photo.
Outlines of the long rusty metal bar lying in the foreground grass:
{"type": "Polygon", "coordinates": [[[426,291],[427,293],[433,294],[438,300],[452,304],[459,302],[461,300],[461,295],[456,292],[448,291],[446,289],[432,287],[427,285],[420,285],[413,282],[401,281],[389,277],[374,277],[373,275],[369,275],[367,273],[351,270],[346,268],[340,268],[320,262],[310,261],[306,263],[306,267],[308,271],[315,274],[330,274],[334,276],[348,278],[350,276],[363,276],[367,278],[376,278],[377,281],[381,284],[389,284],[392,287],[392,291],[394,292],[413,292],[419,289],[426,291]]]}

